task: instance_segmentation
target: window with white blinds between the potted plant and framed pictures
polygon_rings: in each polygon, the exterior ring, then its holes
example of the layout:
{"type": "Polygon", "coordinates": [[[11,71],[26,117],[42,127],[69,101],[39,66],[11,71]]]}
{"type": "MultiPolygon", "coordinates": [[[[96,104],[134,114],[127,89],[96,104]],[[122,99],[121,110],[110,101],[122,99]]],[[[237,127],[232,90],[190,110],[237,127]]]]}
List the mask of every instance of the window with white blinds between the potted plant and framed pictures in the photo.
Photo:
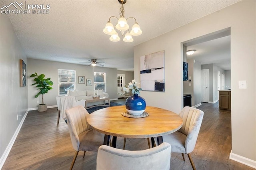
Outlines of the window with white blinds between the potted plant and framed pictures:
{"type": "Polygon", "coordinates": [[[76,89],[76,70],[58,69],[58,95],[76,89]]]}

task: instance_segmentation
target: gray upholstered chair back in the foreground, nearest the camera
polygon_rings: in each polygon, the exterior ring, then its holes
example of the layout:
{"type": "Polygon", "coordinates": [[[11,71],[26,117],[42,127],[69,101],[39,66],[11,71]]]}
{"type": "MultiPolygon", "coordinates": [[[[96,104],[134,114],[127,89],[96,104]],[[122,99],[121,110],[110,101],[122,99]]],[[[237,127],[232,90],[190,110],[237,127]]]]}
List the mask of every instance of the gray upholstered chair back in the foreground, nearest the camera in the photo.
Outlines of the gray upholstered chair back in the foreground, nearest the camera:
{"type": "Polygon", "coordinates": [[[170,170],[171,145],[163,142],[146,150],[99,147],[96,170],[170,170]]]}

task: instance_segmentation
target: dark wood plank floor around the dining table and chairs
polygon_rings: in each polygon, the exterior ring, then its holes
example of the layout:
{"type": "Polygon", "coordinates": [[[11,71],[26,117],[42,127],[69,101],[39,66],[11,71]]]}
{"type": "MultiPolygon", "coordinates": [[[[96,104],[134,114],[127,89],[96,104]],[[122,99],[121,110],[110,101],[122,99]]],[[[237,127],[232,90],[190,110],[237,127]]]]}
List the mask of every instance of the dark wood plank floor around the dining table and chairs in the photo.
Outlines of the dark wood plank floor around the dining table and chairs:
{"type": "MultiPolygon", "coordinates": [[[[123,102],[123,100],[120,100],[123,102]]],[[[219,111],[218,103],[202,103],[204,119],[197,144],[191,156],[198,170],[253,170],[249,166],[229,159],[231,151],[231,113],[219,111]]],[[[123,138],[118,138],[117,148],[122,148],[123,138]]],[[[147,139],[126,140],[127,150],[148,148],[147,139]]],[[[57,124],[56,108],[46,112],[29,111],[20,133],[6,159],[2,170],[68,170],[74,156],[68,125],[63,120],[57,124]]],[[[79,152],[74,170],[95,170],[97,152],[79,152]]],[[[171,154],[171,170],[191,170],[185,155],[171,154]]],[[[120,167],[120,169],[122,169],[120,167]]]]}

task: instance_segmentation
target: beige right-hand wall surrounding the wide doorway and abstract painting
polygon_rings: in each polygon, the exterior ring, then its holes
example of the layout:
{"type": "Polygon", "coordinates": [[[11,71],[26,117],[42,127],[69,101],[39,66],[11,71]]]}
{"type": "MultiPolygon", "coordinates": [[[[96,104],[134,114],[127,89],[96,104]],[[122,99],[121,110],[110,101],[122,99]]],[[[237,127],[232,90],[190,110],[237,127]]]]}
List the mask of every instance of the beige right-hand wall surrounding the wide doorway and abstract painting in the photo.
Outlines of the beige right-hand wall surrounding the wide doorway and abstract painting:
{"type": "Polygon", "coordinates": [[[141,96],[144,97],[147,105],[179,113],[183,106],[182,43],[231,28],[232,151],[230,157],[234,159],[238,155],[237,158],[244,162],[246,162],[244,158],[256,161],[255,13],[256,1],[240,1],[134,47],[134,78],[137,81],[140,81],[140,56],[164,50],[165,66],[168,65],[165,67],[166,91],[164,93],[142,91],[141,96]],[[248,88],[238,89],[239,80],[247,80],[248,88]]]}

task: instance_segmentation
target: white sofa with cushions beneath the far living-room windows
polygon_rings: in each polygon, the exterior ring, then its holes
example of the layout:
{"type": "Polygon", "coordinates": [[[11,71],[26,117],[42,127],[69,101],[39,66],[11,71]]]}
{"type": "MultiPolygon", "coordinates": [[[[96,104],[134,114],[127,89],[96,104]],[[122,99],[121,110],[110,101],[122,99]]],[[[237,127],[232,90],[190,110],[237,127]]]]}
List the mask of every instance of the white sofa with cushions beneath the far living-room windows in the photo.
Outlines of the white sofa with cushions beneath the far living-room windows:
{"type": "MultiPolygon", "coordinates": [[[[104,93],[103,90],[68,90],[67,95],[68,96],[74,96],[76,97],[76,101],[81,103],[82,101],[86,101],[86,99],[92,99],[92,96],[95,95],[95,93],[97,93],[98,96],[100,97],[109,97],[108,93],[104,93]]],[[[108,101],[106,100],[105,103],[108,103],[108,101]]],[[[85,102],[83,103],[85,106],[85,102]]],[[[88,103],[87,106],[93,106],[93,105],[101,105],[103,104],[103,101],[96,101],[96,102],[92,102],[92,103],[88,103]]]]}

